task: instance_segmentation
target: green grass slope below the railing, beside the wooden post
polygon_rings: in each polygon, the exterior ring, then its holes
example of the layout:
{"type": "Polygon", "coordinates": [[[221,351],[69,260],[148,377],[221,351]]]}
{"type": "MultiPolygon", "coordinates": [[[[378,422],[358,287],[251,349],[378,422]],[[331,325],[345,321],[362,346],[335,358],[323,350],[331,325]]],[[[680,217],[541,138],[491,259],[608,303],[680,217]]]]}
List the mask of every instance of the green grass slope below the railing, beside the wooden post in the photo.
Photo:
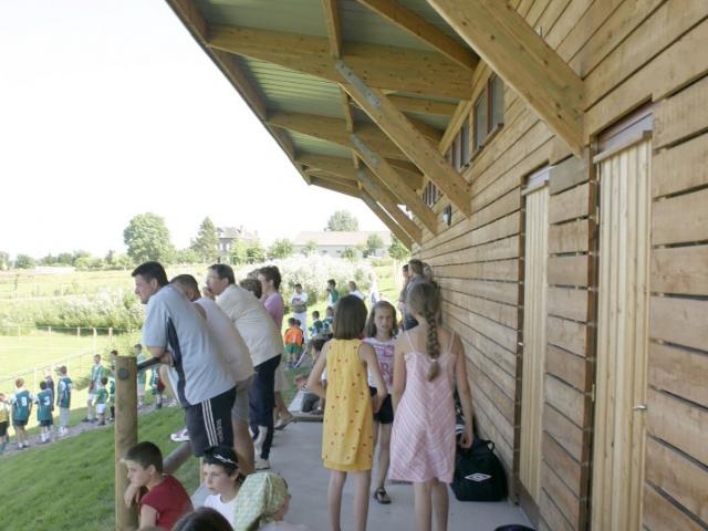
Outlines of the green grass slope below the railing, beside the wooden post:
{"type": "MultiPolygon", "coordinates": [[[[295,375],[308,372],[285,371],[285,403],[295,394],[295,375]]],[[[84,416],[85,408],[72,410],[72,425],[84,416]]],[[[139,417],[138,440],[155,442],[166,457],[177,447],[169,434],[183,426],[179,407],[148,413],[139,417]]],[[[30,429],[30,435],[38,429],[30,429]]],[[[113,426],[0,457],[1,529],[113,529],[114,458],[113,426]]],[[[176,473],[190,493],[199,485],[198,468],[198,460],[190,459],[176,473]]]]}

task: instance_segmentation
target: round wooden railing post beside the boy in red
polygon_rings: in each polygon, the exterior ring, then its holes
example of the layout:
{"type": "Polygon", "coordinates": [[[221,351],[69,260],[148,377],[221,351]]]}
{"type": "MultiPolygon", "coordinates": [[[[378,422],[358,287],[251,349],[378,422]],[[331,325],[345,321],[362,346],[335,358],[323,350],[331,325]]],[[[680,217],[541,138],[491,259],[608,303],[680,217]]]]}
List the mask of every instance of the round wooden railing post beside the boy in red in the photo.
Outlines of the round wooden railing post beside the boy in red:
{"type": "Polygon", "coordinates": [[[132,531],[137,529],[137,510],[123,502],[128,479],[121,459],[137,444],[137,360],[118,356],[115,368],[115,529],[132,531]]]}

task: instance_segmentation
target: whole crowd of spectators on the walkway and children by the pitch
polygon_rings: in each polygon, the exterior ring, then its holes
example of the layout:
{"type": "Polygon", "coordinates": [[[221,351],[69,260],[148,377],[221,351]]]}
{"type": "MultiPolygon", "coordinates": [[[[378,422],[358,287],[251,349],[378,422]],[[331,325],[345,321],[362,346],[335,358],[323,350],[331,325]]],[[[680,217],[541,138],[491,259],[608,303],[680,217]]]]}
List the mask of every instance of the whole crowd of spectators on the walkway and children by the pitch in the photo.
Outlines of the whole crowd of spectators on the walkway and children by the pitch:
{"type": "MultiPolygon", "coordinates": [[[[367,312],[366,298],[354,282],[342,296],[330,280],[325,317],[312,312],[308,327],[308,295],[296,284],[284,337],[282,279],[273,266],[237,283],[229,266],[214,264],[204,288],[187,274],[168,281],[157,262],[139,266],[133,277],[135,292],[147,306],[142,345],[160,362],[150,379],[169,389],[184,408],[185,438],[201,458],[210,491],[205,507],[195,511],[179,482],[163,473],[157,446],[138,444],[123,457],[129,479],[125,502],[137,503],[140,529],[306,529],[284,522],[287,483],[268,469],[273,433],[293,418],[282,404],[283,367],[299,366],[308,354],[312,369],[296,384],[308,398],[303,409],[309,404],[323,413],[321,457],[331,473],[331,529],[341,530],[348,476],[355,489],[355,529],[366,529],[369,497],[383,504],[395,501],[387,480],[413,483],[418,529],[430,529],[433,520],[437,529],[446,529],[456,444],[469,447],[472,441],[471,393],[461,341],[440,326],[439,289],[423,262],[412,260],[404,267],[400,320],[377,291],[372,290],[367,312]],[[459,441],[456,389],[468,419],[459,441]]],[[[138,361],[146,357],[142,345],[135,346],[138,361]]],[[[56,404],[67,410],[72,384],[65,367],[61,371],[56,404]]],[[[105,421],[111,378],[97,356],[90,375],[87,421],[105,421]]],[[[42,395],[42,384],[33,398],[18,382],[9,400],[20,444],[22,423],[15,419],[23,416],[27,424],[33,400],[39,408],[48,396],[49,404],[54,400],[53,391],[42,395]],[[27,413],[15,416],[25,405],[27,413]]],[[[145,384],[146,376],[138,375],[140,405],[145,384]]],[[[2,404],[0,395],[0,408],[2,404]]]]}

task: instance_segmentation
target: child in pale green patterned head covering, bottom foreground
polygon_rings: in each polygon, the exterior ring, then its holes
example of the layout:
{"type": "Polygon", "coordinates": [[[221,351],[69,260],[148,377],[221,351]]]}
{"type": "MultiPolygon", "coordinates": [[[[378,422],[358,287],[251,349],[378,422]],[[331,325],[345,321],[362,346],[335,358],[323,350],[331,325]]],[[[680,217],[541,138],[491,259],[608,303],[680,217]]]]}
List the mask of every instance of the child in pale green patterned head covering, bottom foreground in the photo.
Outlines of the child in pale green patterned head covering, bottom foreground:
{"type": "Polygon", "coordinates": [[[273,472],[251,473],[236,497],[235,531],[306,531],[283,520],[290,508],[288,483],[273,472]]]}

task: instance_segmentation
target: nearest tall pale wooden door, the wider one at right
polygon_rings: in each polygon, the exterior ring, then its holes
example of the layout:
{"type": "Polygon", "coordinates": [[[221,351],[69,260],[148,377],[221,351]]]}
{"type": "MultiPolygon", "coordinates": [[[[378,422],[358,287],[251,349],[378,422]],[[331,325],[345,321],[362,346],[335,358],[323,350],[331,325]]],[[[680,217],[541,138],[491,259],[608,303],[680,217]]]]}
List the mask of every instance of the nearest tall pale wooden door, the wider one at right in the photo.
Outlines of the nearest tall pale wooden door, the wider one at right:
{"type": "Polygon", "coordinates": [[[597,163],[598,316],[592,529],[641,529],[652,143],[597,163]]]}

